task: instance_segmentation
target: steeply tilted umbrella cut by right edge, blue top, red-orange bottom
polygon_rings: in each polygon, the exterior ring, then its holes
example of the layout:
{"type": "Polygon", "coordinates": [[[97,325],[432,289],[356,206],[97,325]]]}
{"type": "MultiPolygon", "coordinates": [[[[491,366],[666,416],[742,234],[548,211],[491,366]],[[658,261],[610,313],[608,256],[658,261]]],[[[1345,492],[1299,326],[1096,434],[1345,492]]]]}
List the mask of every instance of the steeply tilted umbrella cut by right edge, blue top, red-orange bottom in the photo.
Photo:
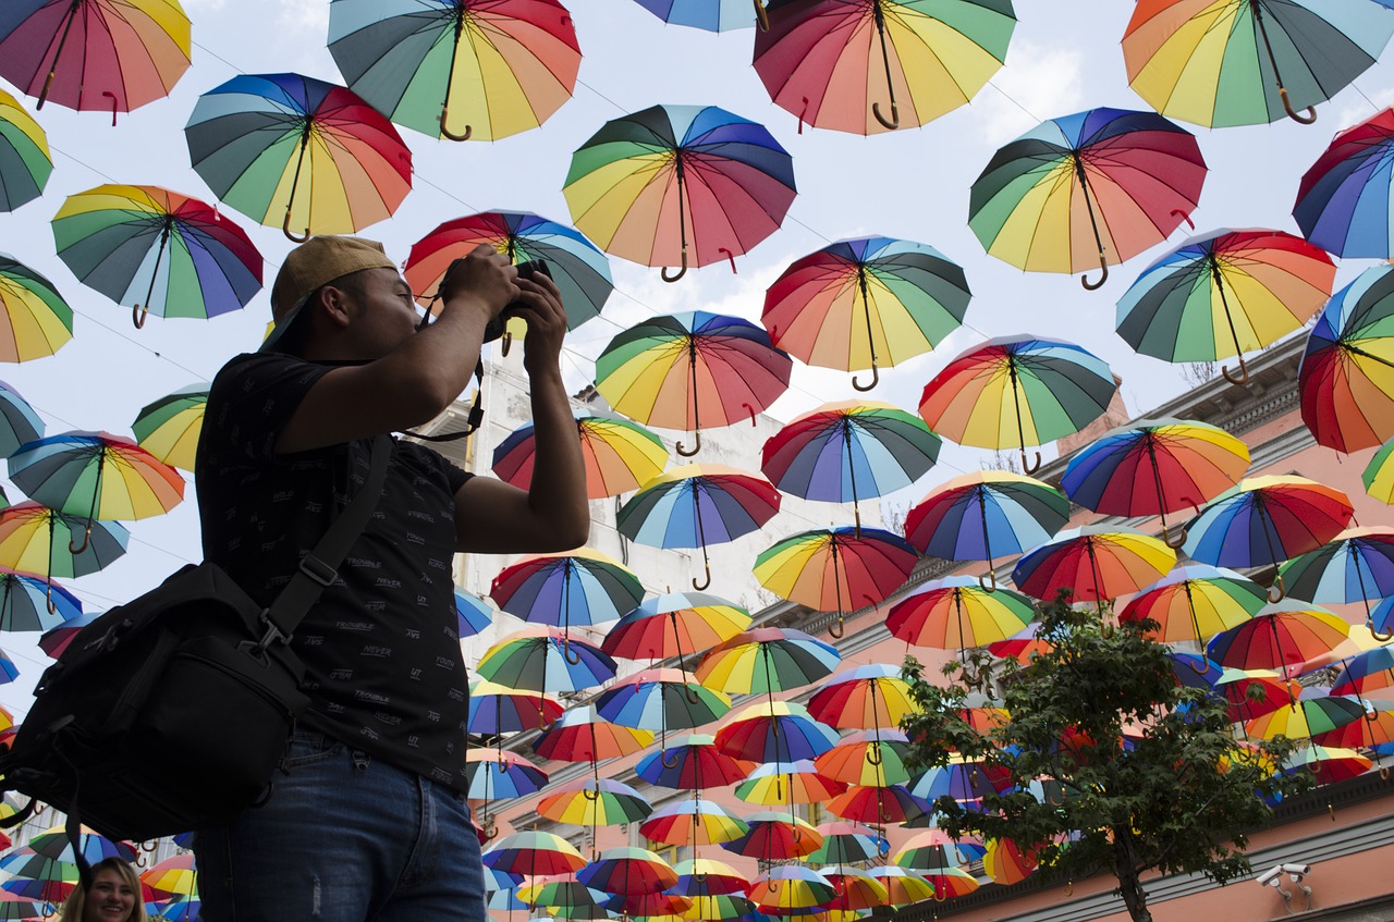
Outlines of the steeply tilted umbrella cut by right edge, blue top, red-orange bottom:
{"type": "Polygon", "coordinates": [[[1394,436],[1394,266],[1337,291],[1308,334],[1298,391],[1312,437],[1359,451],[1394,436]]]}

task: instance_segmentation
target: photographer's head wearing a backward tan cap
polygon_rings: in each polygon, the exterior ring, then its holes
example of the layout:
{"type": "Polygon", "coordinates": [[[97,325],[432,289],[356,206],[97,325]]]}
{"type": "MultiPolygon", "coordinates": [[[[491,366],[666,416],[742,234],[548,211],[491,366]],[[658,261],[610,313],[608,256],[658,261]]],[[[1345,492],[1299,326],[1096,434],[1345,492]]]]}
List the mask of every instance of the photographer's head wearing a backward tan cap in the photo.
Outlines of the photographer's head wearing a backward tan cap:
{"type": "Polygon", "coordinates": [[[312,237],[286,256],[270,294],[276,326],[262,351],[374,359],[415,331],[411,287],[382,244],[312,237]]]}

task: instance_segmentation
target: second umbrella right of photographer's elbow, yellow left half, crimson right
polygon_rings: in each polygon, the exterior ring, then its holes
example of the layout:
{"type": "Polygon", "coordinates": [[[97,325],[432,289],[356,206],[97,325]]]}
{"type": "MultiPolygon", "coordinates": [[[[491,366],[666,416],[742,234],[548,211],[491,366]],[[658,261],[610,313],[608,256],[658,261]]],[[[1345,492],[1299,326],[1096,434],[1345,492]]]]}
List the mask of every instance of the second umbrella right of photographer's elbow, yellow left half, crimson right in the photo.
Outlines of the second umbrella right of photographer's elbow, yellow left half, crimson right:
{"type": "Polygon", "coordinates": [[[903,538],[880,528],[799,532],[756,557],[765,589],[817,611],[836,611],[828,634],[841,638],[843,611],[884,602],[910,577],[920,556],[903,538]]]}

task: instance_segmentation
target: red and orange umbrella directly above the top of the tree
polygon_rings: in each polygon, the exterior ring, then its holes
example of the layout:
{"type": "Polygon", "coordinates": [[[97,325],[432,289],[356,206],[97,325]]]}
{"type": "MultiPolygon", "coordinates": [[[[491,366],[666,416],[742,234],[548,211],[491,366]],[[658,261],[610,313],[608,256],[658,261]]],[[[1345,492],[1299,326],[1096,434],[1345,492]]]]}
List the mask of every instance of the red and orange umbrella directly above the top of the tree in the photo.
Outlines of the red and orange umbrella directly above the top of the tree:
{"type": "Polygon", "coordinates": [[[1012,582],[1037,599],[1068,589],[1079,602],[1117,599],[1160,579],[1177,552],[1135,528],[1086,525],[1041,545],[1016,561],[1012,582]]]}

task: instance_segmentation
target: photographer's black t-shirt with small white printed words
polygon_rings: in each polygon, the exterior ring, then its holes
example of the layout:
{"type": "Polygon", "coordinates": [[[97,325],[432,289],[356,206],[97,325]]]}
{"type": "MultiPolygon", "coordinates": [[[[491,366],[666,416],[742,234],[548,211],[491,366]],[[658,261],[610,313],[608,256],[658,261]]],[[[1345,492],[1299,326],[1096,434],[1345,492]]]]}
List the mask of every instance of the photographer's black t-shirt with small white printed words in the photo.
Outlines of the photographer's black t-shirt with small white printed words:
{"type": "MultiPolygon", "coordinates": [[[[209,391],[194,480],[204,556],[262,604],[368,476],[372,440],[273,448],[332,368],[238,355],[209,391]]],[[[450,560],[454,493],[468,476],[431,448],[395,440],[368,526],[291,641],[307,669],[305,726],[457,790],[467,787],[468,688],[450,560]]]]}

